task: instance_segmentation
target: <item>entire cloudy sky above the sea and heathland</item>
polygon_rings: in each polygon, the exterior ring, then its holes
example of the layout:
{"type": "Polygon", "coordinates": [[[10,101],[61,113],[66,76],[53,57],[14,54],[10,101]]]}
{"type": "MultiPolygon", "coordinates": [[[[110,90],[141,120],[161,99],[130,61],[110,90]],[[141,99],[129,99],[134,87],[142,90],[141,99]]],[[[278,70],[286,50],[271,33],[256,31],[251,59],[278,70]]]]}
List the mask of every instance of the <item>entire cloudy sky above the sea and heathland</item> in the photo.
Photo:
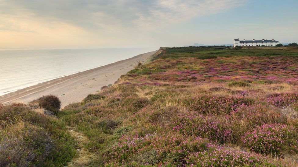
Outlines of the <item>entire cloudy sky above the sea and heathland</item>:
{"type": "Polygon", "coordinates": [[[0,47],[298,42],[297,0],[0,0],[0,47]]]}

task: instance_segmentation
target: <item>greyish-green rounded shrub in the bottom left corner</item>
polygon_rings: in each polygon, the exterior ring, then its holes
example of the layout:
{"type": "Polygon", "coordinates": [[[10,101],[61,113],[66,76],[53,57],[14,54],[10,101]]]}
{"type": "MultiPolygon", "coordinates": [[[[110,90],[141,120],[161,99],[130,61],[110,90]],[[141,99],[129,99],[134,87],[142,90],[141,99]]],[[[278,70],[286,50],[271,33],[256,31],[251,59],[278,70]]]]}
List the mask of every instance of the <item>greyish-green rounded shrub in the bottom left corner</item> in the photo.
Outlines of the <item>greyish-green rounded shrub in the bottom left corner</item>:
{"type": "Polygon", "coordinates": [[[18,123],[0,130],[0,166],[42,166],[53,142],[42,128],[18,123]]]}

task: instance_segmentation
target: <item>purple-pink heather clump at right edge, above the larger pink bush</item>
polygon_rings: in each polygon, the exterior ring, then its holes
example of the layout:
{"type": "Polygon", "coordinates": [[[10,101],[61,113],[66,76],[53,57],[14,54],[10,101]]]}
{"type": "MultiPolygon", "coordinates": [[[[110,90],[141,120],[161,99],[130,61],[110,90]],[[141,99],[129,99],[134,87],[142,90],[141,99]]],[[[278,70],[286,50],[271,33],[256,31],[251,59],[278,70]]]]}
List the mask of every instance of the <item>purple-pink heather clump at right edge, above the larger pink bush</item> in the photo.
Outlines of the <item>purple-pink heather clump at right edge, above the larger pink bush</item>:
{"type": "Polygon", "coordinates": [[[267,103],[276,107],[289,106],[290,104],[297,102],[297,93],[275,93],[267,97],[267,103]]]}

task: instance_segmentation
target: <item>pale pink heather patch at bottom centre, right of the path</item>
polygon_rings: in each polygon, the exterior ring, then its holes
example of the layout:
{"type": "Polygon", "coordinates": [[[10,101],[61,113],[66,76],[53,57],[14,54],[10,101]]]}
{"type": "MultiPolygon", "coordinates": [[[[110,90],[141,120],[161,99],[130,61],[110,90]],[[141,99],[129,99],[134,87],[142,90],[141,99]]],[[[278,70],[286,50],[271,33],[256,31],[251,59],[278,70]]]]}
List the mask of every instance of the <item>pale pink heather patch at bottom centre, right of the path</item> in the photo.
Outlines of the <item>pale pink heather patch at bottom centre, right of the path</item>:
{"type": "Polygon", "coordinates": [[[125,135],[113,146],[111,155],[114,158],[105,165],[129,165],[136,162],[135,165],[140,166],[166,162],[170,166],[183,166],[189,153],[207,151],[213,147],[213,144],[201,137],[173,132],[147,134],[144,137],[125,135]]]}

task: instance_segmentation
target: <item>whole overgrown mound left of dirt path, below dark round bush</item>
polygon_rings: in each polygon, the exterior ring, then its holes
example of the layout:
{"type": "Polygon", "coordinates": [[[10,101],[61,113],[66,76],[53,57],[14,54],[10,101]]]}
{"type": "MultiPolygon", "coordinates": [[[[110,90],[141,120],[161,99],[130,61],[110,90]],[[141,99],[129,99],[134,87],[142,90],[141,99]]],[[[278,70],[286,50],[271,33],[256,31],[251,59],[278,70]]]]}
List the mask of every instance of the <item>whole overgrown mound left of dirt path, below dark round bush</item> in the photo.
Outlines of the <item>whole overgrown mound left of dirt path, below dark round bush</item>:
{"type": "Polygon", "coordinates": [[[65,124],[56,118],[32,111],[25,104],[13,103],[0,106],[0,120],[0,157],[8,159],[0,163],[63,166],[75,156],[76,142],[67,133],[65,124]]]}

